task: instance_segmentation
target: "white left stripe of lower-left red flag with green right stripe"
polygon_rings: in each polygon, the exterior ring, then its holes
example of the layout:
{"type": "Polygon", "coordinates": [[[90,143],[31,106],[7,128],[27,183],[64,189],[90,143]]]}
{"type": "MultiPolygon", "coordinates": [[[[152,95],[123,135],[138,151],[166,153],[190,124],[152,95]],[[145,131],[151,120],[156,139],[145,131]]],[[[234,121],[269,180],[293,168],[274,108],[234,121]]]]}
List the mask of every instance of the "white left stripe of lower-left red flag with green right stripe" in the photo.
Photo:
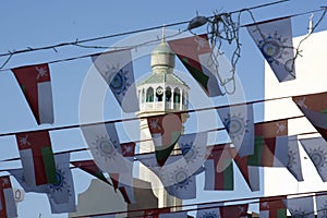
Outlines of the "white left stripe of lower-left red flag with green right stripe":
{"type": "Polygon", "coordinates": [[[26,184],[29,186],[36,185],[32,149],[22,149],[20,155],[26,184]]]}

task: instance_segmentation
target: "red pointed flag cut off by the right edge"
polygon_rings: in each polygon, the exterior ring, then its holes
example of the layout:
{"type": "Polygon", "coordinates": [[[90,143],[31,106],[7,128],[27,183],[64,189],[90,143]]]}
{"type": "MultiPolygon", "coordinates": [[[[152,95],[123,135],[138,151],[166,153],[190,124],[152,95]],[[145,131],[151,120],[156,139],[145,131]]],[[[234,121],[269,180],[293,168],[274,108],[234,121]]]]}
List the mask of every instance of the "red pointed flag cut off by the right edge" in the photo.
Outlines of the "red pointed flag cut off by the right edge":
{"type": "Polygon", "coordinates": [[[327,141],[327,92],[293,97],[293,101],[327,141]]]}

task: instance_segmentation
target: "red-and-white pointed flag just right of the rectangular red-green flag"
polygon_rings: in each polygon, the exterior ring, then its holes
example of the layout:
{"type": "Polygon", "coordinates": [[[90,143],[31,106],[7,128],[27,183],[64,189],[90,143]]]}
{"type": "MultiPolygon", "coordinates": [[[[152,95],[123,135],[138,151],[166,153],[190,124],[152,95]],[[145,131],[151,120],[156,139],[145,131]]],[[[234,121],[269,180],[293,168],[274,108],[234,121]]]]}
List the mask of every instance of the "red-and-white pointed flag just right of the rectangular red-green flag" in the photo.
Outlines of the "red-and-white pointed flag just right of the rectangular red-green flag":
{"type": "Polygon", "coordinates": [[[234,161],[238,165],[245,182],[252,192],[259,191],[259,169],[258,167],[247,166],[247,157],[240,157],[235,149],[231,149],[234,161]]]}

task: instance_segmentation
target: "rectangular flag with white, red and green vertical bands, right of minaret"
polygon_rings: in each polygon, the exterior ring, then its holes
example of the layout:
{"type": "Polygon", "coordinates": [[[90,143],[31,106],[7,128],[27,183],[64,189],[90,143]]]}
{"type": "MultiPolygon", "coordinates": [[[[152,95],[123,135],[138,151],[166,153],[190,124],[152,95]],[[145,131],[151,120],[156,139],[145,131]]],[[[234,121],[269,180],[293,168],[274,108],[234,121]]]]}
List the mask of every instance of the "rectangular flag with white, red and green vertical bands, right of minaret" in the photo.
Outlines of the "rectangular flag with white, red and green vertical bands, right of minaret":
{"type": "Polygon", "coordinates": [[[205,161],[205,190],[234,189],[233,161],[230,145],[207,147],[208,157],[205,161]]]}

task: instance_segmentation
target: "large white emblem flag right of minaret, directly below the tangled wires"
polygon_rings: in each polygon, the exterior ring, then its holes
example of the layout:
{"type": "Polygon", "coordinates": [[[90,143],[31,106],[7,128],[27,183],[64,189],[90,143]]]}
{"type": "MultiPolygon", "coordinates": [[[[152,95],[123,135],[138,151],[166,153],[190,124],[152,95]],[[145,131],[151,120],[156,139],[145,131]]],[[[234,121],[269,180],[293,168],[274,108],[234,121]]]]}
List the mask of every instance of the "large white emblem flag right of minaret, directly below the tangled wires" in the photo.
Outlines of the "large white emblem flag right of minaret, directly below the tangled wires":
{"type": "Polygon", "coordinates": [[[254,121],[253,106],[238,105],[229,108],[219,108],[217,112],[226,128],[231,142],[244,157],[254,153],[254,121]]]}

